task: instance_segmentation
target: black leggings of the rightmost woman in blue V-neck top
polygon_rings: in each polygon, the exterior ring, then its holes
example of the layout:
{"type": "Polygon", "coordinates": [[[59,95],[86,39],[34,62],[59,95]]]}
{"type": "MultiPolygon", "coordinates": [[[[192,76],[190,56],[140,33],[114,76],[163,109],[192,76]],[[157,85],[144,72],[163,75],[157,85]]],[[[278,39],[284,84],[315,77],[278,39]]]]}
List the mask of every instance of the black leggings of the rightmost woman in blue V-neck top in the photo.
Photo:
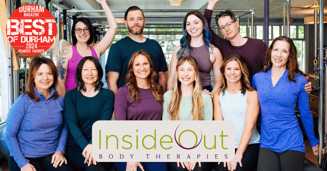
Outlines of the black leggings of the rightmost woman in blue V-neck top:
{"type": "Polygon", "coordinates": [[[305,153],[286,150],[282,153],[260,148],[257,171],[303,171],[305,153]]]}

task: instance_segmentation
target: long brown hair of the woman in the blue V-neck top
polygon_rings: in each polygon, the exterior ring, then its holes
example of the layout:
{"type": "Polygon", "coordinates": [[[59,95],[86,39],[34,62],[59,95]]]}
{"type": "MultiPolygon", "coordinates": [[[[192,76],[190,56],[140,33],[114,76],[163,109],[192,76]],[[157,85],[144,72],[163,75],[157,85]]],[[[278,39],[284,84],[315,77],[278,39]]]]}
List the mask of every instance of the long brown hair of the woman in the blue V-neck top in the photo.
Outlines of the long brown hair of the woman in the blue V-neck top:
{"type": "MultiPolygon", "coordinates": [[[[266,53],[266,60],[264,62],[264,65],[267,66],[265,69],[262,70],[262,72],[267,72],[271,67],[272,67],[272,62],[271,62],[271,50],[274,47],[274,44],[276,43],[276,41],[281,40],[281,41],[286,41],[289,45],[289,56],[288,56],[288,60],[286,63],[286,68],[288,69],[288,73],[287,73],[287,77],[289,81],[293,81],[296,82],[296,74],[300,74],[303,75],[305,77],[308,77],[307,74],[303,73],[300,69],[299,69],[299,63],[298,63],[298,55],[297,55],[297,51],[296,51],[296,47],[294,45],[294,42],[292,39],[286,37],[286,36],[280,36],[276,39],[274,39],[271,42],[271,45],[269,46],[269,49],[267,50],[266,53]]],[[[309,81],[309,80],[308,80],[309,81]]]]}

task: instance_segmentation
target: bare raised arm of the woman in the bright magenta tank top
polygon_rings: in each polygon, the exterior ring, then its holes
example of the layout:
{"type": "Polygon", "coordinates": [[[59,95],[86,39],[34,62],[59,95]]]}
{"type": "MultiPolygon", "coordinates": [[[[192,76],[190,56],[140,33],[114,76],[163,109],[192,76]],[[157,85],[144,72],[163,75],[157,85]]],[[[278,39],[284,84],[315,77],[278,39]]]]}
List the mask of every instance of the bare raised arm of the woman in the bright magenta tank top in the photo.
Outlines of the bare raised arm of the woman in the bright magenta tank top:
{"type": "Polygon", "coordinates": [[[116,34],[116,30],[118,28],[115,17],[113,16],[110,8],[107,5],[106,0],[96,0],[98,3],[101,4],[104,12],[106,13],[107,20],[109,23],[109,30],[104,35],[104,37],[101,39],[101,41],[93,47],[96,51],[96,54],[98,56],[101,56],[111,45],[111,42],[116,34]]]}

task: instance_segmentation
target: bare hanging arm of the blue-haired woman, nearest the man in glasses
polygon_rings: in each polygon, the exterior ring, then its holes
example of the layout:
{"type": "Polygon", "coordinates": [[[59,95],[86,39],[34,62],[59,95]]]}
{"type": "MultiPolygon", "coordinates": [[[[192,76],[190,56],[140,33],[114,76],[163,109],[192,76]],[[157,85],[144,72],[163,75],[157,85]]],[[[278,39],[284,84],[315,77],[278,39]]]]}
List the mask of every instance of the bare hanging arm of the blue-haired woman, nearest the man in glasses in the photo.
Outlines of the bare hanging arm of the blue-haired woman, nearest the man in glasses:
{"type": "MultiPolygon", "coordinates": [[[[220,87],[220,82],[221,82],[220,65],[223,62],[223,56],[220,53],[220,50],[216,47],[214,47],[213,54],[210,54],[210,56],[213,56],[213,58],[215,60],[212,65],[212,71],[214,73],[214,78],[215,78],[215,86],[214,86],[213,90],[211,91],[211,94],[214,94],[220,87]]],[[[211,57],[210,57],[210,59],[211,59],[211,57]]]]}

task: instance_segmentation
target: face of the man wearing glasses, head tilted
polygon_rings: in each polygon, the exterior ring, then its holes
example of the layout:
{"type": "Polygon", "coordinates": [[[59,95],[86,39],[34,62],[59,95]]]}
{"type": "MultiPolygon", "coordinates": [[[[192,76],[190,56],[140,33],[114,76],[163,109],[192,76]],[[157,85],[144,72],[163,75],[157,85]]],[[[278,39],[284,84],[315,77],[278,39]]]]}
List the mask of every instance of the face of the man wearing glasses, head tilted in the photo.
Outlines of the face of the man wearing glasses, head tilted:
{"type": "Polygon", "coordinates": [[[224,29],[220,29],[221,33],[227,38],[232,39],[237,34],[239,34],[238,27],[239,23],[238,21],[232,22],[232,18],[230,16],[223,16],[218,19],[218,27],[224,27],[224,29]],[[226,26],[227,23],[231,23],[231,25],[226,26]]]}

